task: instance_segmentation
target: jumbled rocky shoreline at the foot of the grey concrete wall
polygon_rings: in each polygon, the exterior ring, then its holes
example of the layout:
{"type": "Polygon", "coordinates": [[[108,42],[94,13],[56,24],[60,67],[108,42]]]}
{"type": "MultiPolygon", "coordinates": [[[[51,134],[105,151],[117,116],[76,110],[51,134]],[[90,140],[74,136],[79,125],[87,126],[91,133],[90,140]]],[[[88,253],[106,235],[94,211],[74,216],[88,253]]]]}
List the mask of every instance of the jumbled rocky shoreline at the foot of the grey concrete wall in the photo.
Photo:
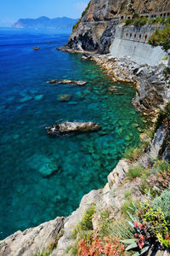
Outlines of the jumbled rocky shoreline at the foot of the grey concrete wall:
{"type": "Polygon", "coordinates": [[[167,79],[164,69],[168,60],[161,60],[156,66],[138,64],[128,56],[116,58],[111,54],[99,55],[94,51],[70,49],[67,45],[59,50],[82,54],[83,60],[92,60],[111,76],[113,82],[131,83],[136,86],[136,97],[133,106],[145,116],[155,117],[170,98],[170,79],[167,79]]]}

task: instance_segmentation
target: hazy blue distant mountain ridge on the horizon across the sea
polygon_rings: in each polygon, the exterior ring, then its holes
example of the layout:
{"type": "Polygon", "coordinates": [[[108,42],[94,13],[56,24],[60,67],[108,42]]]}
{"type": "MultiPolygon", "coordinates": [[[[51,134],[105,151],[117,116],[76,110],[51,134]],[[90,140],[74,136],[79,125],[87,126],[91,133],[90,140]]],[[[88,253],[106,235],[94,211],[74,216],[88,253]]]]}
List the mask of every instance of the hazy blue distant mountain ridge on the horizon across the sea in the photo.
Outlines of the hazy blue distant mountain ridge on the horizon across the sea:
{"type": "Polygon", "coordinates": [[[71,19],[67,17],[49,19],[42,16],[37,19],[20,19],[12,27],[19,28],[58,28],[71,30],[72,26],[77,23],[77,19],[71,19]]]}

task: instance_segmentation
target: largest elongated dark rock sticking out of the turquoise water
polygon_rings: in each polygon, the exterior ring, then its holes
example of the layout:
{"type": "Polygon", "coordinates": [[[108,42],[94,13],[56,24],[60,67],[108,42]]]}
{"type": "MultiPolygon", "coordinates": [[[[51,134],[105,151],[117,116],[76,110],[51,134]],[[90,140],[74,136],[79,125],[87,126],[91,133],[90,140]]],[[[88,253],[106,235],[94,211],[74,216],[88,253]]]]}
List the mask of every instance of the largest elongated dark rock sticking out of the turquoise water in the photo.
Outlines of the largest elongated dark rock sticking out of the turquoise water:
{"type": "Polygon", "coordinates": [[[93,122],[64,122],[60,125],[52,125],[48,129],[48,135],[59,136],[70,132],[98,131],[100,126],[93,122]]]}

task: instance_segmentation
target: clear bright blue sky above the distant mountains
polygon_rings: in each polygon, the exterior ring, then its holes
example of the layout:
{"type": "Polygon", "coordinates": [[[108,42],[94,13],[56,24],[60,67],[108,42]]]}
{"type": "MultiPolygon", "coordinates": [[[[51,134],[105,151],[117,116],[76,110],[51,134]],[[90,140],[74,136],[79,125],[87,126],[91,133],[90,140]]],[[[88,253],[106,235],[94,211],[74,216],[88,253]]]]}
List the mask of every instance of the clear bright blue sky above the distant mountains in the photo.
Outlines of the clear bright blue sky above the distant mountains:
{"type": "Polygon", "coordinates": [[[89,0],[0,0],[0,26],[11,26],[19,19],[80,18],[89,0]]]}

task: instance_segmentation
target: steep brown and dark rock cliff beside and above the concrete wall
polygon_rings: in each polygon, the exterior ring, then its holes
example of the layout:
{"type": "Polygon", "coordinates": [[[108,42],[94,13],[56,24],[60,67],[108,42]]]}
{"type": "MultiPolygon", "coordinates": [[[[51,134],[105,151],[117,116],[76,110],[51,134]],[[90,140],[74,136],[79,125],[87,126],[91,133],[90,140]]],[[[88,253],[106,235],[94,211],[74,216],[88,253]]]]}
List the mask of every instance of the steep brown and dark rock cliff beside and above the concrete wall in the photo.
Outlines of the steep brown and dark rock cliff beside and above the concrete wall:
{"type": "Polygon", "coordinates": [[[78,50],[108,53],[114,38],[116,15],[152,13],[170,9],[167,0],[91,0],[81,22],[72,32],[68,46],[78,50]],[[104,39],[107,38],[107,39],[104,39]]]}

